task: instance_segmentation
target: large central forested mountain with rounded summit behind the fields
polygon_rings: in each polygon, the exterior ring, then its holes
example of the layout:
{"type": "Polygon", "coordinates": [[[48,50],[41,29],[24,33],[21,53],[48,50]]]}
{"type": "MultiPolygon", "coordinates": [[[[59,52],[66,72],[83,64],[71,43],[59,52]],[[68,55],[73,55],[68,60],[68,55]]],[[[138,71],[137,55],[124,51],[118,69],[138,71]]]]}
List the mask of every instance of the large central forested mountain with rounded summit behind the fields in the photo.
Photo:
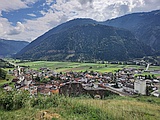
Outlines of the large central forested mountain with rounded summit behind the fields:
{"type": "Polygon", "coordinates": [[[91,61],[126,60],[152,54],[151,48],[138,41],[130,31],[100,25],[90,19],[86,21],[88,19],[76,19],[53,28],[31,42],[16,57],[91,61]]]}

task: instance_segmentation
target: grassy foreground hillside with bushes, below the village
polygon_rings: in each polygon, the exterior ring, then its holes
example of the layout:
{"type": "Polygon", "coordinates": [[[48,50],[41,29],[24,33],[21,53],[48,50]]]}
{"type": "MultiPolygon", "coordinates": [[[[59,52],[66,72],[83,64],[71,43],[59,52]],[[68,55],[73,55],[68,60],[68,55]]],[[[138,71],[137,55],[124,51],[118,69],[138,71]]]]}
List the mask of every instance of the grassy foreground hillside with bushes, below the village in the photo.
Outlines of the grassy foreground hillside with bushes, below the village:
{"type": "Polygon", "coordinates": [[[159,120],[160,99],[117,97],[106,100],[59,95],[30,98],[1,92],[0,120],[159,120]]]}

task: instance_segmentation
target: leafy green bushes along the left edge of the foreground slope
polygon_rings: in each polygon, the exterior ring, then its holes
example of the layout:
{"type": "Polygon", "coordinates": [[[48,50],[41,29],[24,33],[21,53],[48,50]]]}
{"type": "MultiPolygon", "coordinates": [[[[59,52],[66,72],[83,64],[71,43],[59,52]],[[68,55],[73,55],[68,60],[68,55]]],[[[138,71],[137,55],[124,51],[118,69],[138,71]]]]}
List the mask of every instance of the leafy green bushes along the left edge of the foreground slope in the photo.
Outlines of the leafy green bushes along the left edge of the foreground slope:
{"type": "Polygon", "coordinates": [[[22,107],[36,107],[40,109],[57,107],[67,104],[67,98],[59,95],[30,97],[27,91],[0,92],[0,109],[17,110],[22,107]]]}

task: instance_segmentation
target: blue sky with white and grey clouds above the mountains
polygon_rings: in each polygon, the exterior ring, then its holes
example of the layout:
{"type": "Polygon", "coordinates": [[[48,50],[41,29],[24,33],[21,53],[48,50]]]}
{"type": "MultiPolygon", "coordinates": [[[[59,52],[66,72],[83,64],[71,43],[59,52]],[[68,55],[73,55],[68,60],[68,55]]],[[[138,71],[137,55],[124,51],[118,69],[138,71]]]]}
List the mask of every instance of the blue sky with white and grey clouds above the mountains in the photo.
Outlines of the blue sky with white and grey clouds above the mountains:
{"type": "Polygon", "coordinates": [[[75,18],[105,21],[160,9],[160,0],[0,0],[0,38],[33,41],[75,18]]]}

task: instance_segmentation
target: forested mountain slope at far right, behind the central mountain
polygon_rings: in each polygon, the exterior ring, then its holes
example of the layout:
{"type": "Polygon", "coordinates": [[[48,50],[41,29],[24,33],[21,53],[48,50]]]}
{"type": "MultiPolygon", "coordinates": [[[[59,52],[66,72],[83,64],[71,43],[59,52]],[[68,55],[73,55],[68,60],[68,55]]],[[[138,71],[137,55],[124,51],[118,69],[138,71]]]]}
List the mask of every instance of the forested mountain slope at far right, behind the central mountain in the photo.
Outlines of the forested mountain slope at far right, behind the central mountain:
{"type": "Polygon", "coordinates": [[[160,10],[133,13],[102,24],[128,29],[139,40],[160,51],[160,10]]]}

